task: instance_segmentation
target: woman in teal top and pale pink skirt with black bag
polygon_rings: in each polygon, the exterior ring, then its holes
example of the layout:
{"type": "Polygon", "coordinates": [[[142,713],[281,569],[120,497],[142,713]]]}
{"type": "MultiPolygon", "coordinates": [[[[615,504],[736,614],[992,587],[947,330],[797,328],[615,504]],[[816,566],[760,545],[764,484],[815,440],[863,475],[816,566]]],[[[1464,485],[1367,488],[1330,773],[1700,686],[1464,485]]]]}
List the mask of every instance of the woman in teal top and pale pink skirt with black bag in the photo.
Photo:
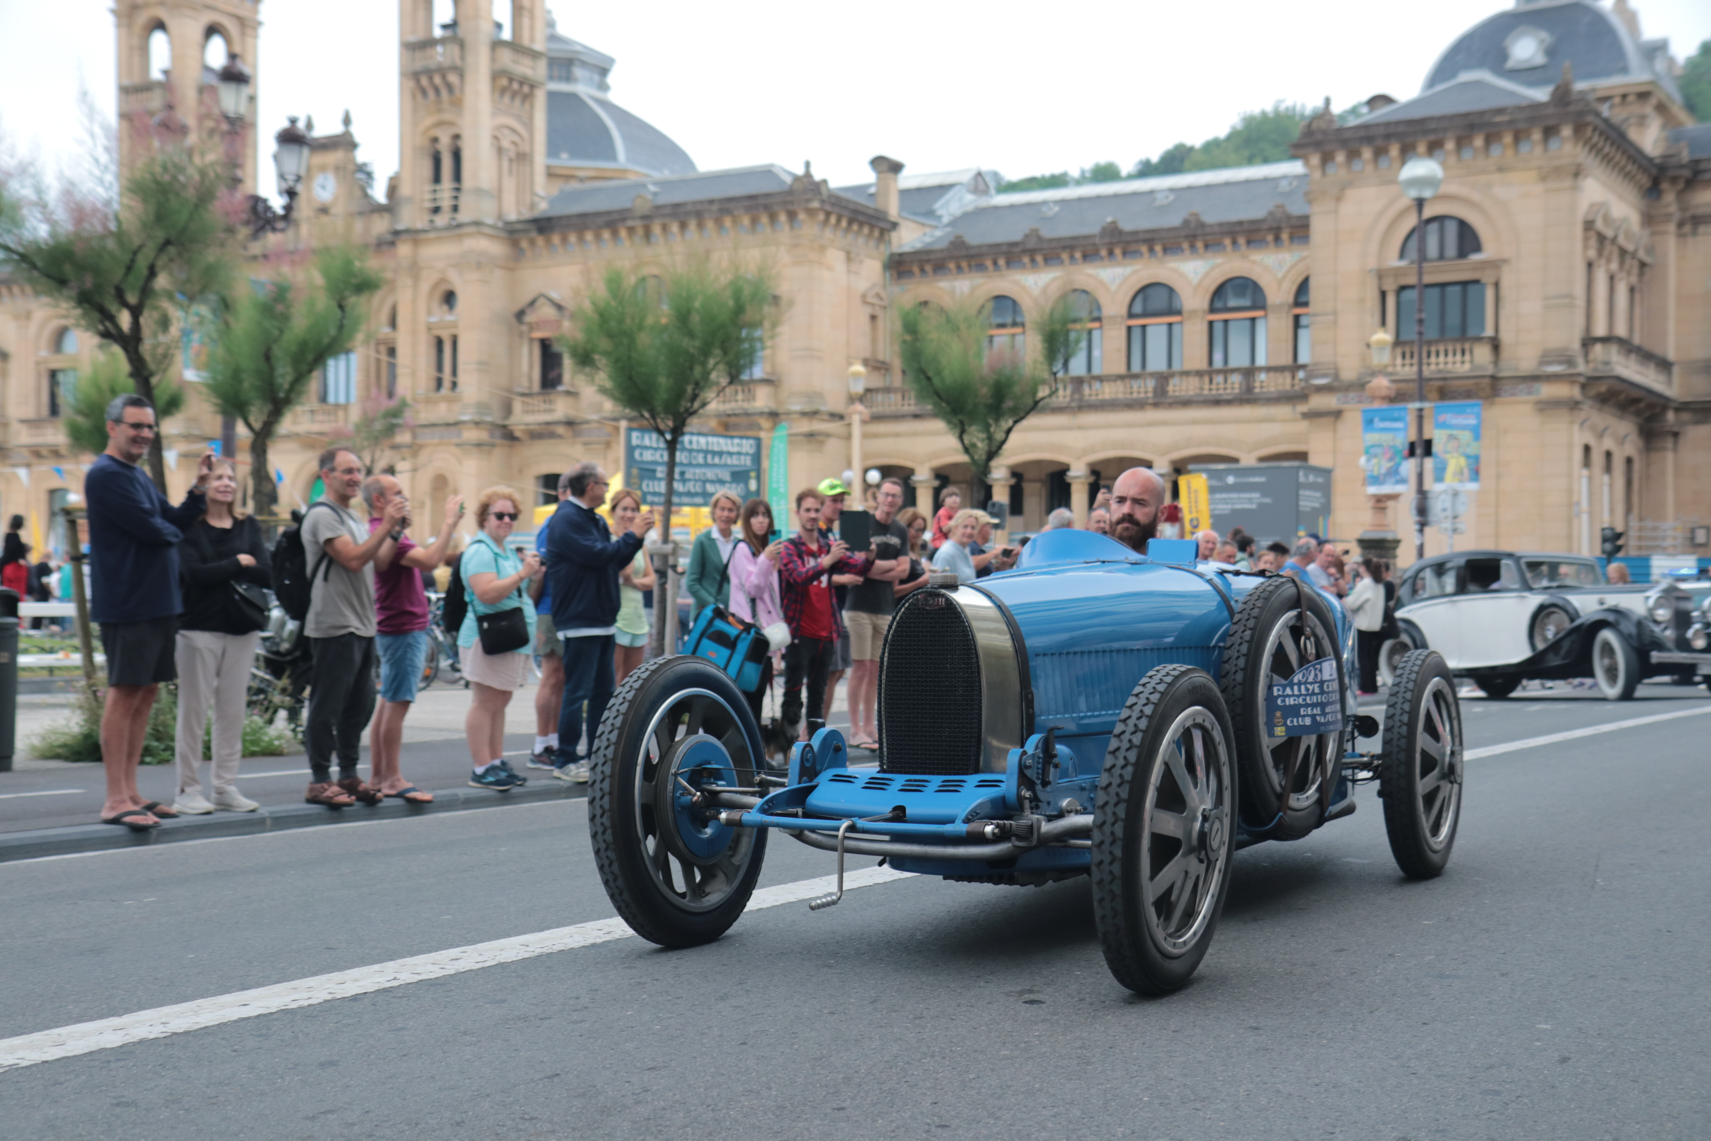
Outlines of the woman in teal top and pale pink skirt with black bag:
{"type": "Polygon", "coordinates": [[[464,580],[469,611],[457,631],[464,677],[469,681],[471,703],[464,717],[464,736],[469,739],[469,758],[474,773],[469,783],[476,789],[505,792],[525,783],[525,777],[505,763],[505,706],[512,695],[529,679],[529,655],[534,648],[534,602],[529,600],[529,582],[541,576],[541,556],[529,551],[517,558],[506,549],[517,527],[517,505],[522,501],[510,488],[488,488],[476,503],[476,537],[464,547],[457,573],[464,580]],[[477,619],[483,614],[522,609],[529,640],[517,650],[488,653],[481,648],[477,619]]]}

